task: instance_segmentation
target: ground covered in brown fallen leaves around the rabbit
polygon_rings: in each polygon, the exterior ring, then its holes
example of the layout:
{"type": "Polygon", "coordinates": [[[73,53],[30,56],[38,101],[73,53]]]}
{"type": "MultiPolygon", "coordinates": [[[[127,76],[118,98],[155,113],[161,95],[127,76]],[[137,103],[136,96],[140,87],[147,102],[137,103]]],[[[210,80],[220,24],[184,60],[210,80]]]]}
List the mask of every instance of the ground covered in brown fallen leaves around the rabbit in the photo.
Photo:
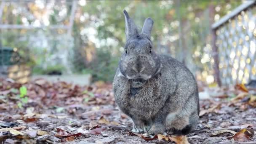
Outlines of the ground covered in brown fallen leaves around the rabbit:
{"type": "MultiPolygon", "coordinates": [[[[256,144],[256,96],[244,85],[213,89],[220,95],[200,100],[200,123],[187,136],[189,143],[256,144]]],[[[168,136],[147,141],[131,128],[109,83],[0,80],[0,144],[175,144],[168,136]]]]}

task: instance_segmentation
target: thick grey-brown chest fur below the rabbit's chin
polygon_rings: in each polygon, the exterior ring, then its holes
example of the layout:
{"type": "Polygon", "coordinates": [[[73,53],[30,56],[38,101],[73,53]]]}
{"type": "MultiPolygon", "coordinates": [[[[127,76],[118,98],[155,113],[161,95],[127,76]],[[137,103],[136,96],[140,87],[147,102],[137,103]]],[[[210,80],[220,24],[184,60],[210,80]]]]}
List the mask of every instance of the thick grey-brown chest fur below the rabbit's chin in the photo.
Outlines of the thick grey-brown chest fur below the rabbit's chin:
{"type": "Polygon", "coordinates": [[[114,85],[115,98],[117,104],[127,115],[150,119],[163,107],[161,73],[157,73],[136,90],[132,90],[131,80],[120,78],[120,82],[119,85],[114,85]]]}

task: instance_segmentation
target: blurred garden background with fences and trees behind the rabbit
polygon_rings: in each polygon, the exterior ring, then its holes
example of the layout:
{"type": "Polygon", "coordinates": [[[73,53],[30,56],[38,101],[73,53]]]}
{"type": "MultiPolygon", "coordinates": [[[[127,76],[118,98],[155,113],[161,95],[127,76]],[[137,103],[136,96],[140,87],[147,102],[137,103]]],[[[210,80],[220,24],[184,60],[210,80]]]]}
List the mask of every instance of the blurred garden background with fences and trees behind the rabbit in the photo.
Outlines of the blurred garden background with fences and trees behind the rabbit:
{"type": "Polygon", "coordinates": [[[256,76],[254,0],[0,0],[0,77],[111,82],[125,45],[123,9],[207,85],[256,76]]]}

